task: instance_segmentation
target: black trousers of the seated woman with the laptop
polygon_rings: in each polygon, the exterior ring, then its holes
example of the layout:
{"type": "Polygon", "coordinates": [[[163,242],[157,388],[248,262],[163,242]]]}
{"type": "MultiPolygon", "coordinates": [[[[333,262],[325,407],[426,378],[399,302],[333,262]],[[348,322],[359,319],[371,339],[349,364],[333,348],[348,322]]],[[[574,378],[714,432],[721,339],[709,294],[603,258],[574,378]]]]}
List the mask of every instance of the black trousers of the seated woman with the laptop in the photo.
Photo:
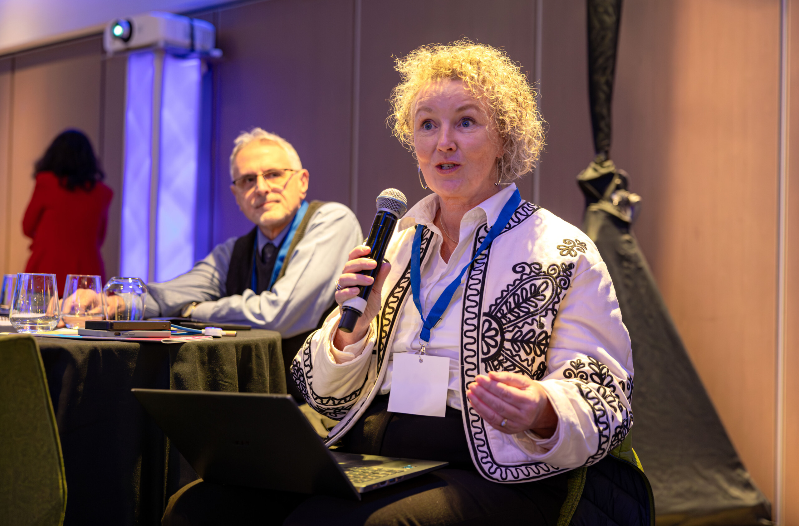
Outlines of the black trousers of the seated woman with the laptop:
{"type": "Polygon", "coordinates": [[[377,397],[340,450],[450,465],[367,492],[360,501],[195,481],[169,499],[161,524],[557,524],[566,473],[523,484],[487,481],[471,462],[460,411],[447,408],[447,417],[420,417],[388,413],[387,407],[388,397],[377,397]]]}

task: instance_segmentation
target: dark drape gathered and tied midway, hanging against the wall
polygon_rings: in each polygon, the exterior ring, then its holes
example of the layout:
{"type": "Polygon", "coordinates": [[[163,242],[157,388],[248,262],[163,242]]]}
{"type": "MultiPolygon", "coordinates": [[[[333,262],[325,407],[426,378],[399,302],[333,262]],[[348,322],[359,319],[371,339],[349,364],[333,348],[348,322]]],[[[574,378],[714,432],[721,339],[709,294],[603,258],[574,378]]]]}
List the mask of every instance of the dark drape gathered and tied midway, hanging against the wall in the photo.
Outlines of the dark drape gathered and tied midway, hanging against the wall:
{"type": "Polygon", "coordinates": [[[586,197],[582,229],[605,260],[630,331],[635,368],[630,433],[652,485],[657,523],[769,524],[762,522],[770,519],[769,501],[729,441],[630,230],[640,198],[629,192],[626,172],[610,160],[622,2],[586,1],[596,157],[577,178],[586,197]]]}

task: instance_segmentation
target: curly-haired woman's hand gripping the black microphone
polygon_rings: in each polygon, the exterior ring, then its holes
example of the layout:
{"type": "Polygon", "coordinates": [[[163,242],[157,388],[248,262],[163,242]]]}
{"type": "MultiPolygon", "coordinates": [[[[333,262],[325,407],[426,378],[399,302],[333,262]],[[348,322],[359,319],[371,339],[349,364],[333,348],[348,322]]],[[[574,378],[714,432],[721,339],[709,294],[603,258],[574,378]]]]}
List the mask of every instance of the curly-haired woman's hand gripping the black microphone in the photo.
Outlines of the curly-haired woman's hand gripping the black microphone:
{"type": "Polygon", "coordinates": [[[365,257],[369,252],[371,252],[370,248],[365,245],[353,248],[349,254],[349,261],[344,265],[344,271],[341,272],[337,280],[339,287],[342,287],[340,291],[336,291],[336,303],[339,306],[358,295],[360,289],[356,286],[365,287],[372,285],[372,282],[374,282],[374,287],[372,287],[372,292],[369,294],[369,299],[366,303],[366,310],[358,318],[358,322],[356,322],[352,332],[346,333],[343,330],[336,329],[333,345],[339,350],[343,350],[345,346],[363,339],[369,330],[369,324],[380,312],[380,292],[383,289],[383,283],[386,280],[386,276],[388,276],[388,272],[392,270],[392,265],[384,260],[380,271],[377,273],[377,279],[359,274],[360,271],[371,271],[377,267],[377,262],[374,259],[365,257]]]}

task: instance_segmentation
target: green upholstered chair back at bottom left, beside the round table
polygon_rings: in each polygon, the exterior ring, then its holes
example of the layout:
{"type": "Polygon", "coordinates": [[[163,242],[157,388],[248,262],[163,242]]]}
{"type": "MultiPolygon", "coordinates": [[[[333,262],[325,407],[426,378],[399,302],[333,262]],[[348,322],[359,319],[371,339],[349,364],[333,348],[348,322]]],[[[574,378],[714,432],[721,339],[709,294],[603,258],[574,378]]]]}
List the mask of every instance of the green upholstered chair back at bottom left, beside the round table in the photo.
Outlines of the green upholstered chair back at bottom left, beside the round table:
{"type": "Polygon", "coordinates": [[[31,336],[0,336],[0,524],[63,524],[66,477],[42,355],[31,336]]]}

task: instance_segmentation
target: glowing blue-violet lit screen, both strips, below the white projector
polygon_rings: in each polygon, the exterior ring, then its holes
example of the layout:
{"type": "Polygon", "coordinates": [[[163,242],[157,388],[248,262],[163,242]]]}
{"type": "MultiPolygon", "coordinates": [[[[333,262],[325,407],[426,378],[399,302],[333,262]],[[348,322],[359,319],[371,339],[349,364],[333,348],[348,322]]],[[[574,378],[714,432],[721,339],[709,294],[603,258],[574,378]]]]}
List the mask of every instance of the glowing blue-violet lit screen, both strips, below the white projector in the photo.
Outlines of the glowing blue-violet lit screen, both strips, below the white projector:
{"type": "Polygon", "coordinates": [[[192,267],[197,213],[202,63],[156,53],[129,56],[125,111],[121,273],[145,281],[192,267]]]}

